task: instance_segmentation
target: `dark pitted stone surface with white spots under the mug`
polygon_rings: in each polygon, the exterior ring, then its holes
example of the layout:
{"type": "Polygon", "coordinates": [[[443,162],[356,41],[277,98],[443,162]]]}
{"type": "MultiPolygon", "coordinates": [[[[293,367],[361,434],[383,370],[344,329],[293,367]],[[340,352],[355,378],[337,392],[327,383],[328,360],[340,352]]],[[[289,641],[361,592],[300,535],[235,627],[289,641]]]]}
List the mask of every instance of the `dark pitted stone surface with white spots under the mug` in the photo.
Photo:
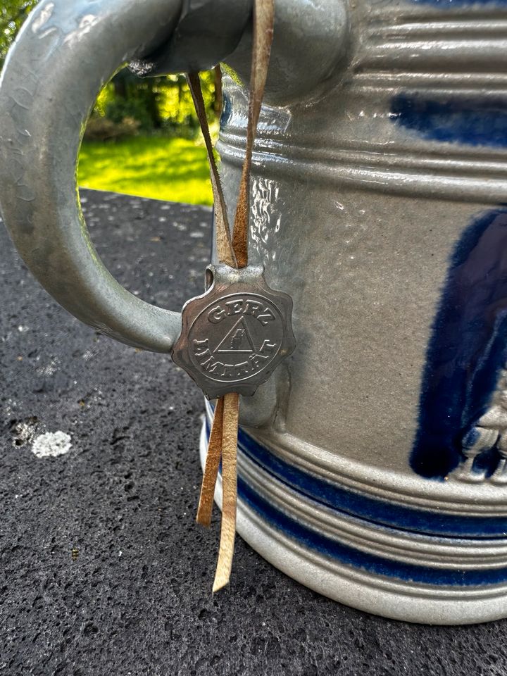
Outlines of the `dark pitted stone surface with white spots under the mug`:
{"type": "MultiPolygon", "coordinates": [[[[82,191],[134,294],[201,293],[211,210],[82,191]]],[[[0,225],[0,675],[505,676],[507,622],[428,627],[325,599],[194,522],[202,396],[169,356],[80,324],[0,225]],[[59,453],[51,455],[51,453],[59,453]]]]}

